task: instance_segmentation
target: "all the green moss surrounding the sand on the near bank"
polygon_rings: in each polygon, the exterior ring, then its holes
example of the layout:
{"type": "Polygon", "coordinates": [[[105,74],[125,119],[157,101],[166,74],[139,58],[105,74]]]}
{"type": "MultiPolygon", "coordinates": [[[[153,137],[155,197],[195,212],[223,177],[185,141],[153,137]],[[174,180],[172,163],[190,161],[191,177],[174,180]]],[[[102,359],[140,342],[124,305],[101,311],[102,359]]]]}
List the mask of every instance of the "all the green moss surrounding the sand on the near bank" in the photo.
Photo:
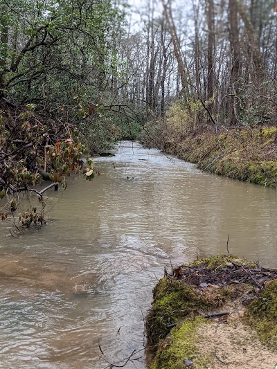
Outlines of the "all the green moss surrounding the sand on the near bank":
{"type": "MultiPolygon", "coordinates": [[[[201,271],[203,266],[203,269],[211,269],[213,274],[222,268],[230,267],[229,262],[247,267],[256,266],[254,262],[233,255],[215,255],[196,260],[188,266],[195,267],[196,272],[201,271]]],[[[208,325],[214,323],[202,318],[199,313],[212,311],[211,308],[222,304],[223,307],[228,306],[231,301],[241,298],[244,298],[241,300],[243,304],[247,296],[251,299],[247,300],[245,323],[258,332],[262,343],[267,343],[276,350],[277,279],[267,282],[260,296],[256,297],[253,285],[247,282],[205,290],[193,289],[184,280],[162,278],[154,288],[152,309],[145,321],[148,343],[156,345],[157,349],[151,369],[185,369],[188,367],[186,359],[192,361],[195,369],[211,365],[215,359],[214,350],[203,350],[203,334],[207,330],[209,332],[209,329],[213,330],[208,325]],[[252,298],[255,300],[251,301],[252,298]],[[178,324],[170,331],[168,325],[172,323],[178,324]]],[[[205,337],[207,340],[209,336],[205,337]]]]}

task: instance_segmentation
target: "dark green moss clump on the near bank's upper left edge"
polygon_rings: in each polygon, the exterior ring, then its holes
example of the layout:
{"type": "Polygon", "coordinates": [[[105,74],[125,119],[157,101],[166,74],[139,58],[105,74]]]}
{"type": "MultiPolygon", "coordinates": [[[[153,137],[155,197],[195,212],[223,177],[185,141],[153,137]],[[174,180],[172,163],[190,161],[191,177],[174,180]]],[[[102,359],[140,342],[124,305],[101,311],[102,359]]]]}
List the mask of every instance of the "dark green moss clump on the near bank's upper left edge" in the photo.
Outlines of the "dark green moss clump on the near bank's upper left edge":
{"type": "Polygon", "coordinates": [[[169,324],[178,323],[187,316],[209,308],[211,303],[197,296],[186,283],[171,278],[161,279],[154,288],[152,308],[145,321],[148,342],[156,345],[170,332],[169,324]]]}

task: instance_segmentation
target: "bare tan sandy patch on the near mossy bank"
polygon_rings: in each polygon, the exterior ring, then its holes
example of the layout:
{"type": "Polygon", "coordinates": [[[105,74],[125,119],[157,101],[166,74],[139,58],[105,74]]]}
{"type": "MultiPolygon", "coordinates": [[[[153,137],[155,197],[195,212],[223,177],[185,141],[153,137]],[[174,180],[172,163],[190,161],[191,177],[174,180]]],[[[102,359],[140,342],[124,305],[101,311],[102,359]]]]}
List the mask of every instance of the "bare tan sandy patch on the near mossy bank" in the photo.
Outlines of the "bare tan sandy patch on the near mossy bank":
{"type": "Polygon", "coordinates": [[[274,369],[277,354],[265,348],[256,332],[242,323],[244,307],[233,305],[232,311],[226,320],[213,320],[197,331],[199,351],[211,357],[208,368],[274,369]]]}

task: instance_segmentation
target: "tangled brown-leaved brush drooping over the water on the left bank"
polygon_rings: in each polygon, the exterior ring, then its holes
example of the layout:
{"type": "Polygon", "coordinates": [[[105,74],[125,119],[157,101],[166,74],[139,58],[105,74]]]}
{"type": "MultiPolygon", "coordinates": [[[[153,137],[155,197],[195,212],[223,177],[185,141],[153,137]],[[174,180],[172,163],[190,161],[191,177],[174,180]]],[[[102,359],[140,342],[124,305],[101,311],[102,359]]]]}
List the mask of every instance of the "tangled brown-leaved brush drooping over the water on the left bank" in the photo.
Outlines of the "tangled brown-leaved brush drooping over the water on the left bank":
{"type": "MultiPolygon", "coordinates": [[[[21,107],[20,112],[3,109],[1,116],[0,201],[5,195],[13,196],[17,192],[36,193],[42,204],[41,213],[38,215],[36,208],[30,208],[21,215],[19,223],[25,227],[43,224],[44,197],[33,186],[43,178],[66,187],[65,176],[81,172],[87,147],[80,143],[73,125],[50,119],[42,121],[30,106],[21,107]]],[[[89,180],[94,177],[91,165],[91,160],[87,159],[87,167],[81,172],[89,180]]],[[[17,209],[15,199],[8,204],[0,210],[2,220],[17,209]]]]}

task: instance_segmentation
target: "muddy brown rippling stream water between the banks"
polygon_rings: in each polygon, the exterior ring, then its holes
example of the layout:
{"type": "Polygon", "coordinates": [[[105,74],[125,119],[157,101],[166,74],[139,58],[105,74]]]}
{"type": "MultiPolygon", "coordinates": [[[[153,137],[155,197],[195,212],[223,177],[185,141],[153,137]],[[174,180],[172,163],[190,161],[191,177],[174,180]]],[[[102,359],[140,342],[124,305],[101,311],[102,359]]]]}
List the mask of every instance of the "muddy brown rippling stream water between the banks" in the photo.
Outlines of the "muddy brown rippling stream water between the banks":
{"type": "Polygon", "coordinates": [[[96,165],[51,193],[42,230],[1,225],[1,368],[108,368],[99,345],[111,363],[141,350],[125,368],[146,368],[143,315],[170,260],[225,253],[230,235],[231,253],[277,267],[276,190],[138,143],[96,165]]]}

